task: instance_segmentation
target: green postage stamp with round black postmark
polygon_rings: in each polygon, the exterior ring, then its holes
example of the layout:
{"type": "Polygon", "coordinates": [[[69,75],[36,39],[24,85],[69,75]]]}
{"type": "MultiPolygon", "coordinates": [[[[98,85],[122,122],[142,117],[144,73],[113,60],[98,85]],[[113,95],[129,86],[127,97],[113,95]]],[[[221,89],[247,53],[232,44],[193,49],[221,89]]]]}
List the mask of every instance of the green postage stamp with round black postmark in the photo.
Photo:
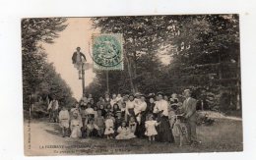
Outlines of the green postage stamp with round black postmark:
{"type": "Polygon", "coordinates": [[[121,34],[96,34],[93,36],[93,60],[100,68],[122,68],[123,48],[121,34]],[[120,67],[118,67],[120,66],[120,67]]]}

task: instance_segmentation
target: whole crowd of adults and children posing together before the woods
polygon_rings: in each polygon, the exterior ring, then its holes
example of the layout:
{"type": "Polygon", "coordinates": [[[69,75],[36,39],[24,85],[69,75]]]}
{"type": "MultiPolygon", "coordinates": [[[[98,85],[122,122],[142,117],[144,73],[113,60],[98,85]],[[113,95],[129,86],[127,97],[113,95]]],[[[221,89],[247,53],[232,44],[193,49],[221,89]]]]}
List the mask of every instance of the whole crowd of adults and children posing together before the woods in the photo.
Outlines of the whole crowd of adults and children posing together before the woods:
{"type": "MultiPolygon", "coordinates": [[[[58,121],[63,136],[98,136],[115,139],[147,137],[150,141],[174,142],[177,116],[186,121],[188,142],[197,143],[196,103],[189,89],[184,90],[182,102],[173,93],[170,98],[162,92],[148,96],[136,94],[112,94],[83,96],[73,108],[61,107],[58,121]]],[[[51,102],[54,104],[56,102],[51,102]]],[[[55,104],[56,105],[56,104],[55,104]]],[[[48,107],[51,108],[51,107],[48,107]]]]}

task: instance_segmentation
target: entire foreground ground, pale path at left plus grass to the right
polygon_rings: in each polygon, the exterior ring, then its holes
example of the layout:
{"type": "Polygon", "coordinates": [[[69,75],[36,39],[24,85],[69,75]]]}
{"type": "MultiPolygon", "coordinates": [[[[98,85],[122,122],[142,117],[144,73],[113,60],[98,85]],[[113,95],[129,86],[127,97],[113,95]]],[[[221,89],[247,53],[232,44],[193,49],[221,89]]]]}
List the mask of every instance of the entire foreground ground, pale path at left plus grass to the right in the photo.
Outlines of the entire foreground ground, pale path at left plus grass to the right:
{"type": "MultiPolygon", "coordinates": [[[[27,126],[28,122],[25,123],[27,126]]],[[[25,129],[25,141],[28,134],[25,129]]],[[[74,139],[61,137],[58,124],[36,121],[31,123],[32,149],[27,155],[86,155],[86,154],[134,154],[134,153],[180,153],[242,151],[242,122],[217,119],[213,126],[199,126],[198,146],[149,142],[147,139],[115,140],[105,138],[74,139]],[[51,145],[64,148],[46,148],[51,145]]],[[[25,148],[28,148],[25,145],[25,148]]]]}

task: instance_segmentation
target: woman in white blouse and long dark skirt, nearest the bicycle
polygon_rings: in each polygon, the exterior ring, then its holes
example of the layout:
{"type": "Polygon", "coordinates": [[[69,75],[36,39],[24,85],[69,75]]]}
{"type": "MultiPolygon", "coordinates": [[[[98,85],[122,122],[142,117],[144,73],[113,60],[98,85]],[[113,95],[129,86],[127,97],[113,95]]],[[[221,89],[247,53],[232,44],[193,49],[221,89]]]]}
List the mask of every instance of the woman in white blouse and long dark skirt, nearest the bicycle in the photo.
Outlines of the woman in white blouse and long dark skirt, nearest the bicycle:
{"type": "Polygon", "coordinates": [[[159,92],[157,95],[159,100],[156,102],[156,106],[154,108],[154,113],[158,114],[158,122],[160,123],[157,128],[157,140],[161,142],[174,142],[168,121],[168,102],[162,98],[162,92],[159,92]]]}

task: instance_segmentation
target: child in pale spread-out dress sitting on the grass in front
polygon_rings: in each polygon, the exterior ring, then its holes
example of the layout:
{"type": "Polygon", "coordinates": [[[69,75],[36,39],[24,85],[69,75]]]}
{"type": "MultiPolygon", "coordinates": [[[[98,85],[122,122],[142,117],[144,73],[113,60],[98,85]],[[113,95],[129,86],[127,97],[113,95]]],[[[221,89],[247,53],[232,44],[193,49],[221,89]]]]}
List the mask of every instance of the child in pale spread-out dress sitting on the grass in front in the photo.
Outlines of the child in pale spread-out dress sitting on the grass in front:
{"type": "Polygon", "coordinates": [[[117,129],[117,133],[118,135],[115,136],[115,139],[131,139],[136,137],[127,127],[126,122],[122,122],[122,126],[117,129]]]}

